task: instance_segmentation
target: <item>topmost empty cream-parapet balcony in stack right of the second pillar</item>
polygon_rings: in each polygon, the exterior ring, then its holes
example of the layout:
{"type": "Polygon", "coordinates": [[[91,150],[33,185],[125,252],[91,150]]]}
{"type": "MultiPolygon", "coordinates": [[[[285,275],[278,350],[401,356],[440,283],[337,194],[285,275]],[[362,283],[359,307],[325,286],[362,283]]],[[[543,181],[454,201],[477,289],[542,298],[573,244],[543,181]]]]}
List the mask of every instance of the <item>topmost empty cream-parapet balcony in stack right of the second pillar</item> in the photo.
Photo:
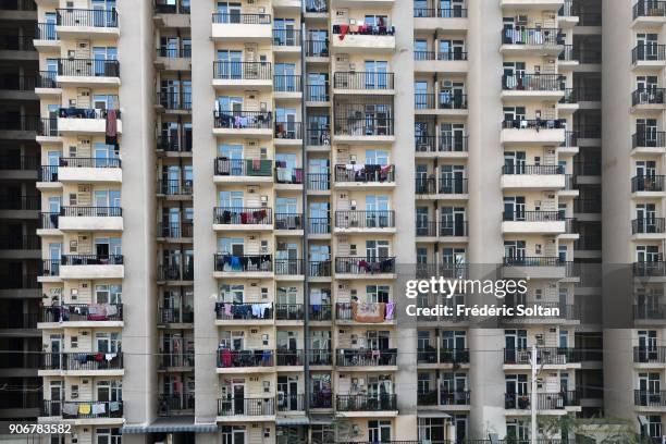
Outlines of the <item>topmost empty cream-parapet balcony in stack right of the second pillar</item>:
{"type": "Polygon", "coordinates": [[[272,40],[270,14],[242,14],[238,12],[212,14],[212,38],[222,41],[272,40]]]}

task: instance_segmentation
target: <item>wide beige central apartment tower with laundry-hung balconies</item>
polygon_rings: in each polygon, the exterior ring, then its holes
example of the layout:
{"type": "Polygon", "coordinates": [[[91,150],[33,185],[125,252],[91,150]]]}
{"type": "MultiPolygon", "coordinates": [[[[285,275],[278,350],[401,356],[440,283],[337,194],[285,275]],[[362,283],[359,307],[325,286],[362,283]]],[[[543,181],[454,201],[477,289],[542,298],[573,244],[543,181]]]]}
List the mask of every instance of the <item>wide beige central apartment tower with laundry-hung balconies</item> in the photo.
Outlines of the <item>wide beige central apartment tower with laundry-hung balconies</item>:
{"type": "MultiPolygon", "coordinates": [[[[601,0],[36,3],[39,420],[73,427],[53,442],[527,442],[532,406],[605,407],[581,316],[601,295],[601,0]],[[399,323],[406,270],[529,275],[507,304],[559,312],[399,323]]],[[[657,3],[614,9],[604,49],[627,48],[627,86],[648,72],[633,110],[658,120],[657,3]]],[[[607,123],[614,168],[658,156],[620,149],[638,115],[607,123]]]]}

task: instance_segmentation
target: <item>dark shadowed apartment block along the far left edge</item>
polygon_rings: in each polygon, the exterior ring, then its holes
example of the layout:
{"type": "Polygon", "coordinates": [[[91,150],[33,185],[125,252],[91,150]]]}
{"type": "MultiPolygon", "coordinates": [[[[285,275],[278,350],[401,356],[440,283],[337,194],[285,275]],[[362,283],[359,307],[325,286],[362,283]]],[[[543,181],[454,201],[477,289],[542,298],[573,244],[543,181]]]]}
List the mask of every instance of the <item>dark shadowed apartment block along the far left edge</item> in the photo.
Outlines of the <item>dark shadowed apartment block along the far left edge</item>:
{"type": "Polygon", "coordinates": [[[39,146],[33,1],[0,2],[0,418],[37,419],[39,146]]]}

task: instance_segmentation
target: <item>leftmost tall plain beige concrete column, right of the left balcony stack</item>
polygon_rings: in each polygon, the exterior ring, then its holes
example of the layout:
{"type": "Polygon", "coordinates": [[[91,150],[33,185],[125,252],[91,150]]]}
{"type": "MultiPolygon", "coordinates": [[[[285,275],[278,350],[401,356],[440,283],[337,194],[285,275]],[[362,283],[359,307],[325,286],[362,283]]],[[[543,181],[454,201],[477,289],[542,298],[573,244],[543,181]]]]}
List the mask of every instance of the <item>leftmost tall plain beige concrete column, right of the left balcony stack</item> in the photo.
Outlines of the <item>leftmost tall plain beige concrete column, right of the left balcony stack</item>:
{"type": "Polygon", "coordinates": [[[125,424],[148,424],[157,414],[157,287],[155,214],[155,54],[152,5],[119,0],[120,106],[123,120],[125,424]]]}

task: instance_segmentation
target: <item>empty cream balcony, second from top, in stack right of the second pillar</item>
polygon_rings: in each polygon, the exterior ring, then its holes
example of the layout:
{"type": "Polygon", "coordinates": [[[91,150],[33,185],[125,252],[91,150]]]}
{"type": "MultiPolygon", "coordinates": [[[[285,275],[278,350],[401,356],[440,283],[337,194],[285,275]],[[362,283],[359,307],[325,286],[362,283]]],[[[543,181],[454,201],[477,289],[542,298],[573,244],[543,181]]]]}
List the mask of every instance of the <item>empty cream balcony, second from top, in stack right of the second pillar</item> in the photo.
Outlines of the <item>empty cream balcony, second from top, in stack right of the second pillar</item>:
{"type": "Polygon", "coordinates": [[[224,89],[270,90],[273,87],[273,70],[270,62],[213,62],[212,85],[224,89]]]}

